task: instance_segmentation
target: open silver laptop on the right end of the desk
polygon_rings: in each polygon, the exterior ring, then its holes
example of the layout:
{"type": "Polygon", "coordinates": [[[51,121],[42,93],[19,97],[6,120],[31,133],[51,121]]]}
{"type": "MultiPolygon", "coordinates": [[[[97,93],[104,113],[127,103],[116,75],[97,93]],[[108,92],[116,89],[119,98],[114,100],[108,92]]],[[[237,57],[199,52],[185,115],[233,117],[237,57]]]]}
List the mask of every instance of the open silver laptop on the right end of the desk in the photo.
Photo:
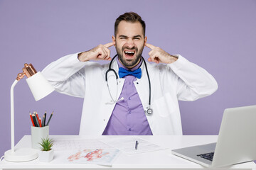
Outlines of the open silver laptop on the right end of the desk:
{"type": "Polygon", "coordinates": [[[206,167],[256,160],[256,106],[225,109],[217,143],[174,149],[172,153],[206,167]]]}

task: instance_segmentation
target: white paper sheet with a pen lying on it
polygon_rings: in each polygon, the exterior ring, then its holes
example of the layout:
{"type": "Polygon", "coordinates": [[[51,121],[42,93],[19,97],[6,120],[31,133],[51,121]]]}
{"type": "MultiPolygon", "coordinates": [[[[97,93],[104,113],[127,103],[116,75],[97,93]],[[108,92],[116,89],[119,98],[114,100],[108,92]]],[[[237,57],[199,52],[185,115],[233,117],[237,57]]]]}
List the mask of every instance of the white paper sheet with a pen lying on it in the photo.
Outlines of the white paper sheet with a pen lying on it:
{"type": "Polygon", "coordinates": [[[101,141],[107,145],[119,149],[126,154],[140,154],[165,149],[159,145],[142,140],[139,137],[113,137],[112,139],[104,139],[101,141]],[[138,142],[137,149],[135,148],[136,141],[138,142]]]}

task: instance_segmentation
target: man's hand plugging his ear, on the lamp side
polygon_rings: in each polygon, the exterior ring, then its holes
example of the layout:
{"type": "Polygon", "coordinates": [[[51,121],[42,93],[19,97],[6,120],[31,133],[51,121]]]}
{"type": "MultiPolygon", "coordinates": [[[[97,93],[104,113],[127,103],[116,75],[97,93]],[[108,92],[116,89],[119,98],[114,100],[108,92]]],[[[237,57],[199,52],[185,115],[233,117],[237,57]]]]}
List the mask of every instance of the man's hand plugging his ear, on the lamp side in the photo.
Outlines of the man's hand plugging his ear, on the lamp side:
{"type": "Polygon", "coordinates": [[[90,60],[111,60],[109,47],[115,45],[115,42],[110,42],[105,45],[98,45],[92,48],[92,50],[81,52],[78,54],[78,60],[80,62],[87,62],[90,60]]]}

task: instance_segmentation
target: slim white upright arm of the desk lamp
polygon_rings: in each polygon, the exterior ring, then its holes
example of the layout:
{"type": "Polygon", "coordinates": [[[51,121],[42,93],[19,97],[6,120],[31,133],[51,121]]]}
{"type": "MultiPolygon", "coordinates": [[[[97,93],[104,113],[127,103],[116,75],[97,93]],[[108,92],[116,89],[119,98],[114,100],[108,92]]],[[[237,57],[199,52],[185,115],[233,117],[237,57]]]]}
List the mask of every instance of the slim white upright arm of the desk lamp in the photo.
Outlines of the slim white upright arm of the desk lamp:
{"type": "Polygon", "coordinates": [[[11,85],[11,152],[14,152],[14,86],[18,83],[15,79],[11,85]]]}

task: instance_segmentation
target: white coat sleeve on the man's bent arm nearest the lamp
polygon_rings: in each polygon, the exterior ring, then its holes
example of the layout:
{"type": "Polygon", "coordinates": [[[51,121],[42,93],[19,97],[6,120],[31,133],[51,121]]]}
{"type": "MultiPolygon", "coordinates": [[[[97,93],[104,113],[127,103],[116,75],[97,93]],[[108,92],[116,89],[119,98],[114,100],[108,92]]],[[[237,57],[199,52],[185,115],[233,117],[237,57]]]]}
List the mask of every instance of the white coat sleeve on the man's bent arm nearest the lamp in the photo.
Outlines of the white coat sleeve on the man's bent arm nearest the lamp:
{"type": "Polygon", "coordinates": [[[85,62],[78,60],[78,53],[66,55],[48,64],[42,74],[61,94],[81,97],[85,95],[85,62]]]}

